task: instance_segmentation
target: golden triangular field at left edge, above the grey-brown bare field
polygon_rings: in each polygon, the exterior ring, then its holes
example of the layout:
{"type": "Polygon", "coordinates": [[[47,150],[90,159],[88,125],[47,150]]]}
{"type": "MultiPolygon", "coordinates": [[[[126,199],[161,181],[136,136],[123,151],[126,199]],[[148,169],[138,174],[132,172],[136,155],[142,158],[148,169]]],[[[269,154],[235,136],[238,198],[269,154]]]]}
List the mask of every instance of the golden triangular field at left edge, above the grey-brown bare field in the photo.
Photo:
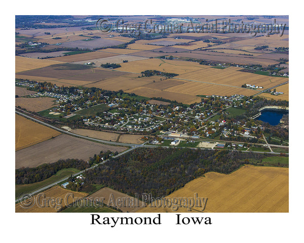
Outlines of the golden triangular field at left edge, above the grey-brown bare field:
{"type": "Polygon", "coordinates": [[[56,137],[61,133],[15,114],[15,150],[56,137]]]}

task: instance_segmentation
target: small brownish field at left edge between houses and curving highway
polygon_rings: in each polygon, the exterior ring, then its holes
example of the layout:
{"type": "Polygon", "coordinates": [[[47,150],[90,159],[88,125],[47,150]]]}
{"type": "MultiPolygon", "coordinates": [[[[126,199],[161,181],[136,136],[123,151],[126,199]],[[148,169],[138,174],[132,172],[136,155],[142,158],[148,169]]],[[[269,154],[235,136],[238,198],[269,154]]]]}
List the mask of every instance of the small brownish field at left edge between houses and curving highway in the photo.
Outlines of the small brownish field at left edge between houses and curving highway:
{"type": "Polygon", "coordinates": [[[56,106],[56,99],[50,97],[23,98],[15,99],[15,106],[20,106],[30,111],[39,112],[56,106]]]}

